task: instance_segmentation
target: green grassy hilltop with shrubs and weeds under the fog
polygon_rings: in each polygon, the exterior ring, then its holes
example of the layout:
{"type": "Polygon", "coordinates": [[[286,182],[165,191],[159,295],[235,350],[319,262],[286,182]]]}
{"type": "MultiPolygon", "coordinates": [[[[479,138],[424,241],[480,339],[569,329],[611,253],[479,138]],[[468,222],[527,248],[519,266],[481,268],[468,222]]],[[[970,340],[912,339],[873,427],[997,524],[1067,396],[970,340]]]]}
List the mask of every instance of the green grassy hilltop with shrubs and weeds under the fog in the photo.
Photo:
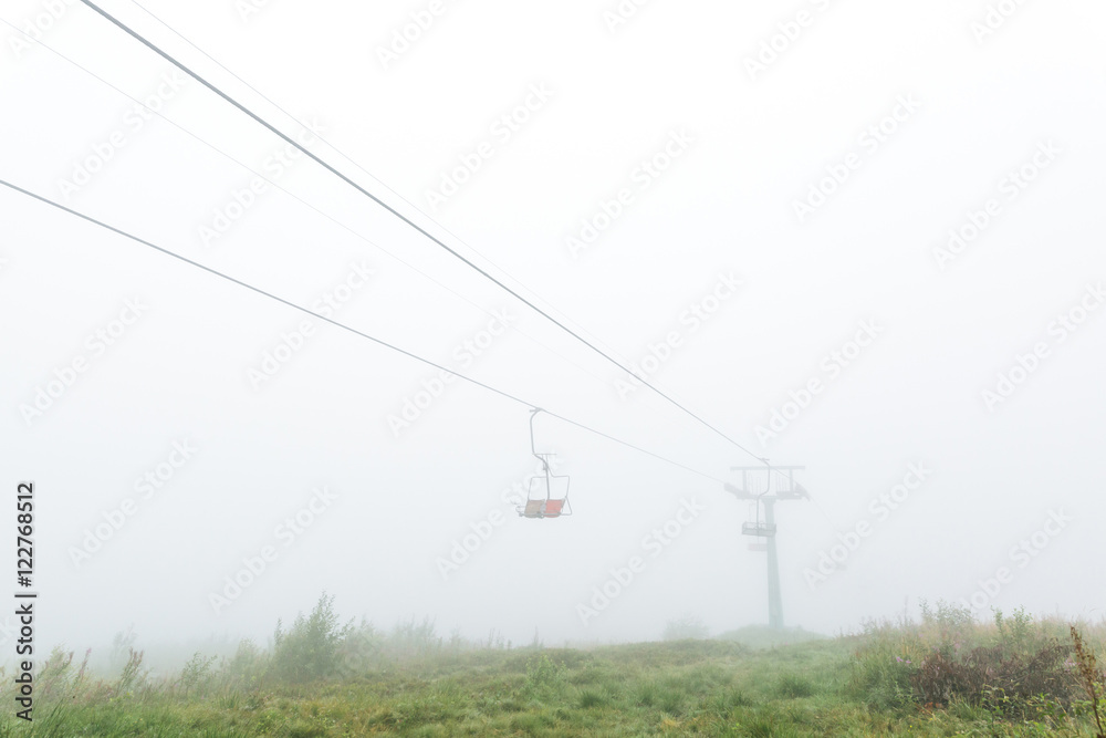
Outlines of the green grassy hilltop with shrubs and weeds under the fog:
{"type": "Polygon", "coordinates": [[[0,735],[1099,735],[1100,624],[1078,625],[1078,653],[1066,623],[1014,613],[979,624],[943,604],[920,623],[836,638],[749,628],[508,648],[441,638],[428,622],[340,626],[331,605],[278,627],[265,648],[197,654],[157,679],[139,652],[105,678],[55,651],[36,675],[33,724],[15,719],[3,675],[0,735]]]}

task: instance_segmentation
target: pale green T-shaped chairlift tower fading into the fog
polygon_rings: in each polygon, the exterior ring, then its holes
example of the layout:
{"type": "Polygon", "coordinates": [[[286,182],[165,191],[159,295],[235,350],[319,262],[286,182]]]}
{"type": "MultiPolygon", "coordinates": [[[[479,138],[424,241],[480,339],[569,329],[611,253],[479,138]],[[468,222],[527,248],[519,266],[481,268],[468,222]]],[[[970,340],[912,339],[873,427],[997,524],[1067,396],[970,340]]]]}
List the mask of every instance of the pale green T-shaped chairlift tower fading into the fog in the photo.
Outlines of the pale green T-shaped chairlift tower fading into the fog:
{"type": "Polygon", "coordinates": [[[764,466],[730,467],[731,471],[741,472],[741,486],[727,484],[726,491],[739,500],[753,500],[757,506],[754,521],[741,524],[742,536],[755,536],[765,541],[768,551],[768,624],[769,627],[783,627],[783,597],[780,594],[780,561],[775,551],[775,503],[786,500],[810,498],[802,485],[795,481],[795,471],[806,467],[773,467],[768,459],[761,459],[764,466]],[[772,489],[772,472],[779,472],[775,478],[776,488],[772,489]],[[764,506],[764,517],[761,519],[761,506],[764,506]]]}

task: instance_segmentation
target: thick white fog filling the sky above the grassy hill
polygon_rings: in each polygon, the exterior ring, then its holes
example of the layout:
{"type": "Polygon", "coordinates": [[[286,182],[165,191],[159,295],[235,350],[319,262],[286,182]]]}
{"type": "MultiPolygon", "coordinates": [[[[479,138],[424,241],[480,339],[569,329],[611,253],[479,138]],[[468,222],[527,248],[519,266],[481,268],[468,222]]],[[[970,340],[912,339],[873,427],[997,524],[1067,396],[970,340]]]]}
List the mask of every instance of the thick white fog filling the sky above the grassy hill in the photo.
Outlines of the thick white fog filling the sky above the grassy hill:
{"type": "Polygon", "coordinates": [[[196,262],[0,188],[38,643],[263,640],[324,591],[519,644],[766,623],[723,489],[759,458],[805,467],[789,626],[1102,617],[1098,3],[101,7],[576,335],[81,2],[4,0],[0,178],[196,262]],[[532,407],[572,516],[515,512],[532,407]]]}

